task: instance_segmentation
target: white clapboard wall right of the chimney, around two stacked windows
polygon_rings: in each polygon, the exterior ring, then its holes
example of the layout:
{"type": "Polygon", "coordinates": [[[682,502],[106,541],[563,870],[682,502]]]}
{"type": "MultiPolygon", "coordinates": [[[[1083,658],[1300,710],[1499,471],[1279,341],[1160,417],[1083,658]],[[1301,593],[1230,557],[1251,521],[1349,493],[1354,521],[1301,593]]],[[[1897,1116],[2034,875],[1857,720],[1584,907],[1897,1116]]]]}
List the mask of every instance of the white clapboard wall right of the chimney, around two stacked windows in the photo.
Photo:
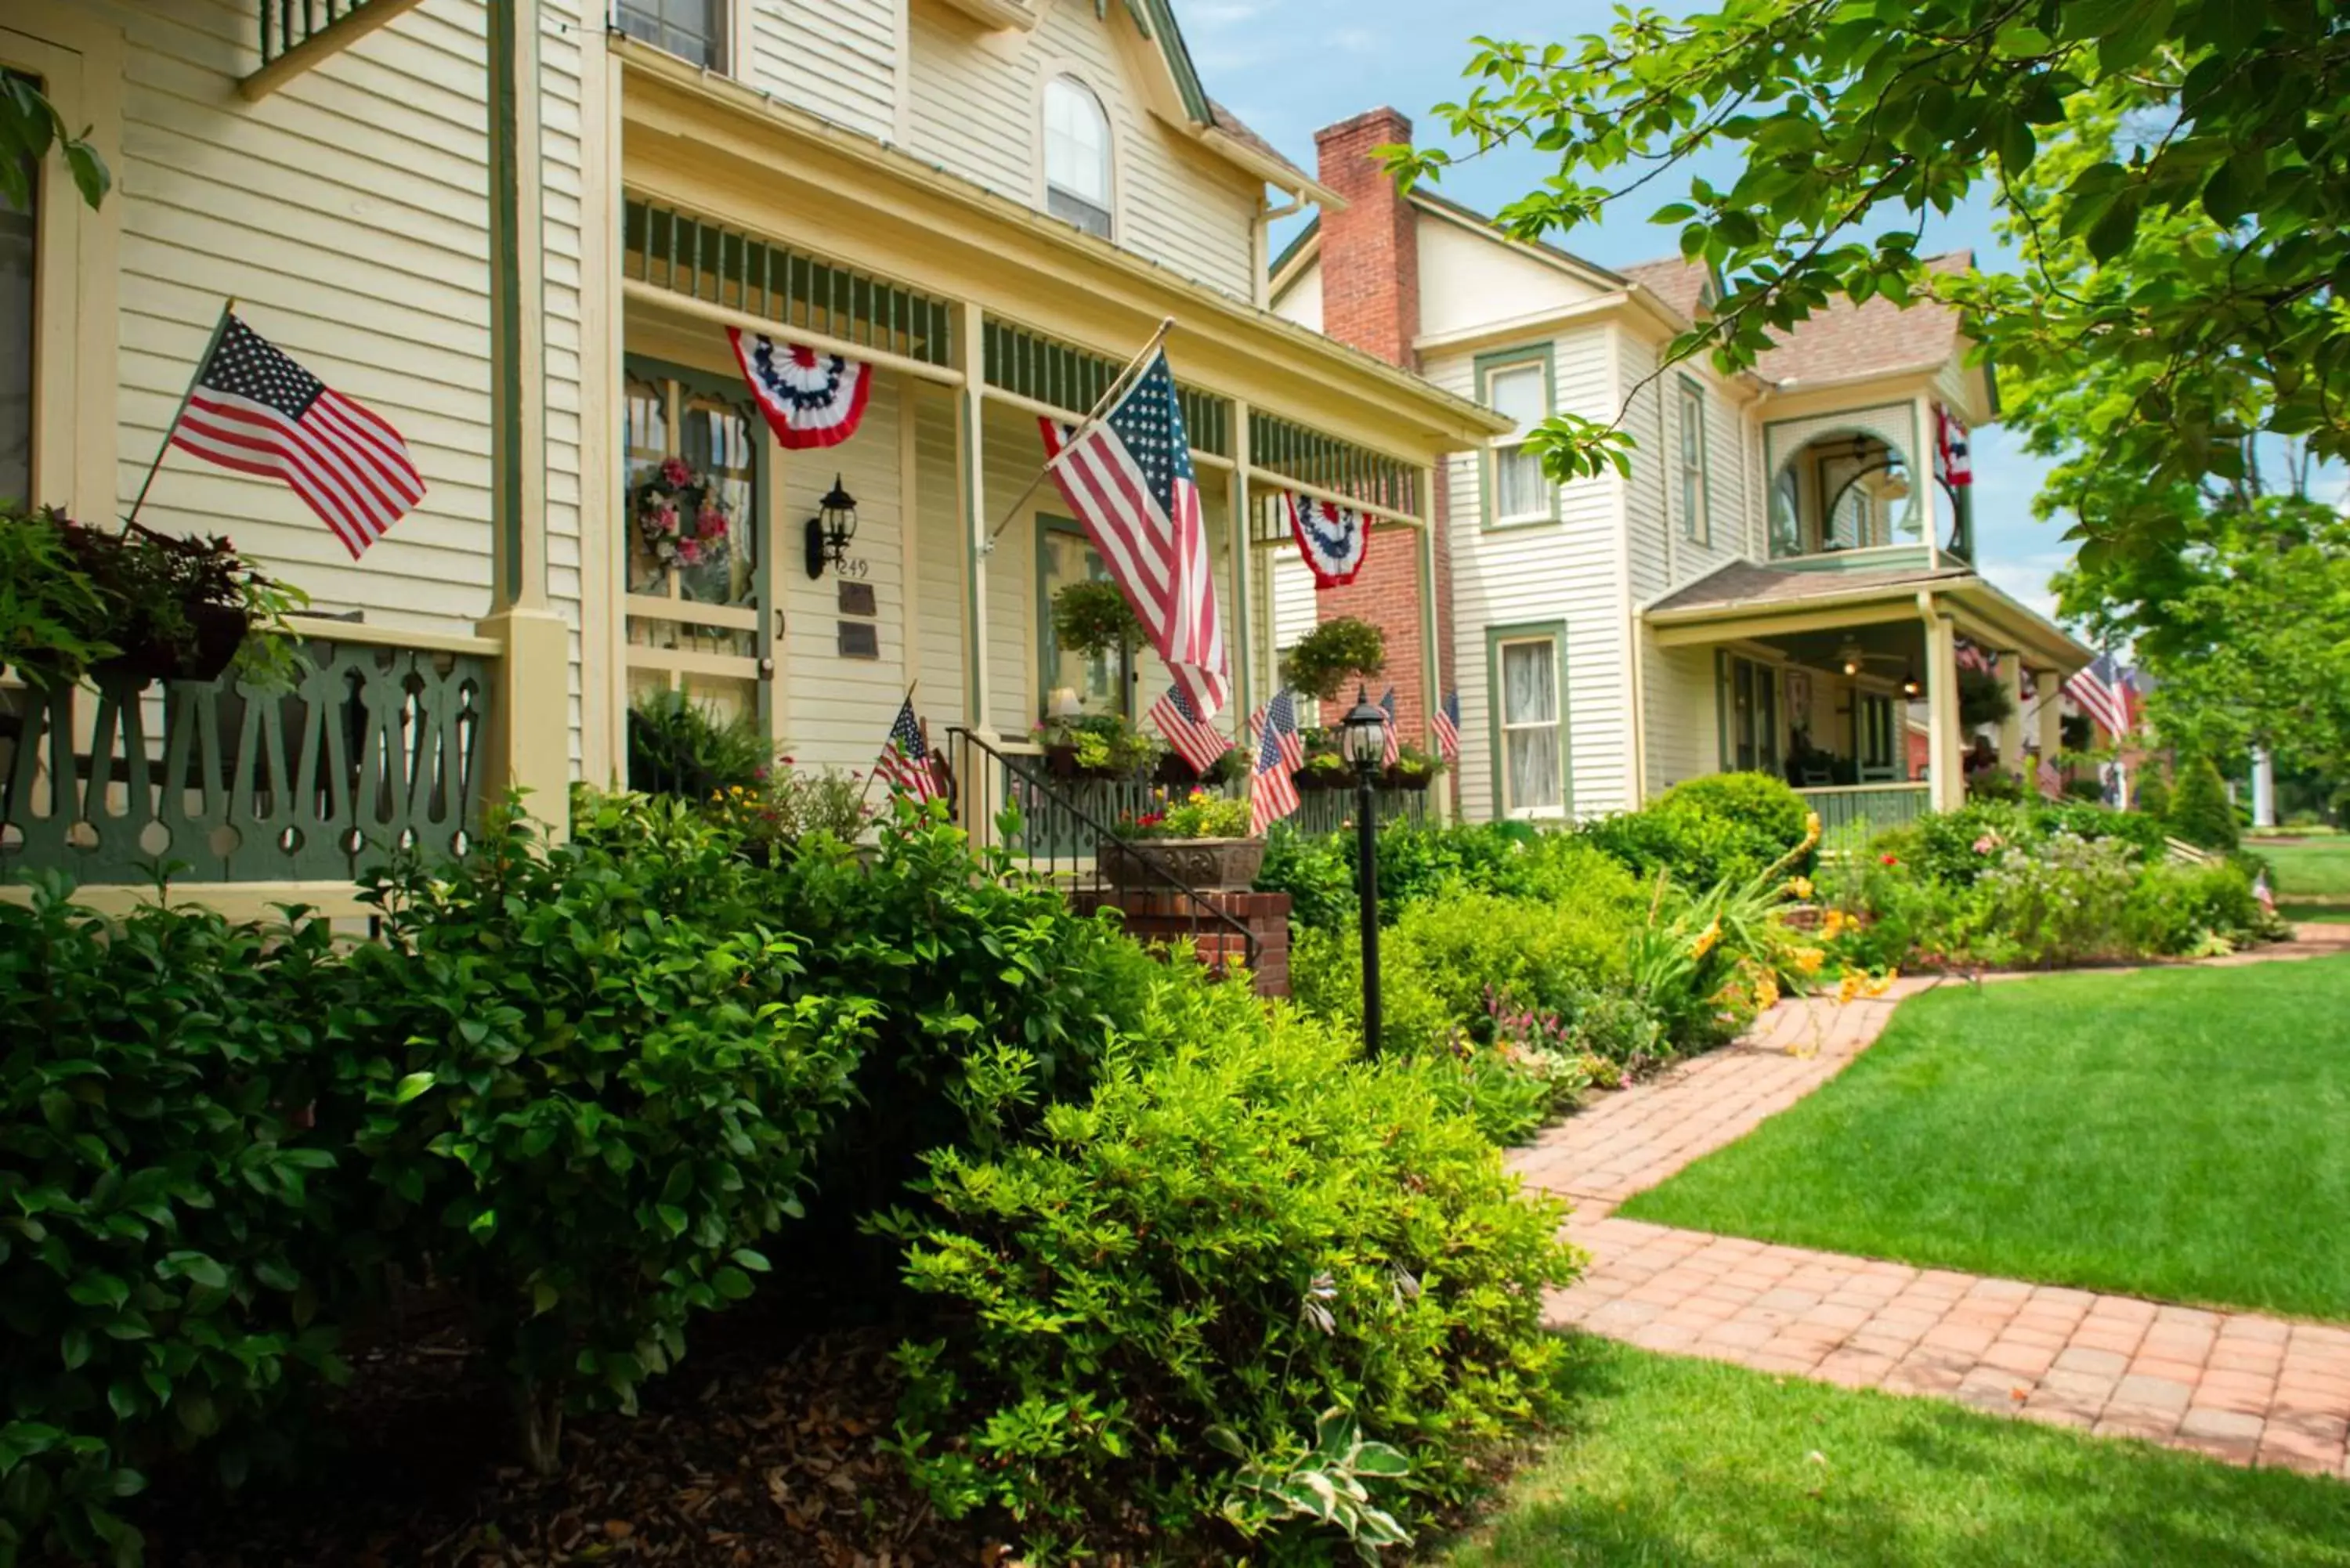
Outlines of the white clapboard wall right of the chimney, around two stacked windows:
{"type": "MultiPolygon", "coordinates": [[[[1426,364],[1431,381],[1459,395],[1476,393],[1473,360],[1443,355],[1426,364]]],[[[1560,411],[1607,418],[1614,414],[1607,378],[1607,329],[1579,327],[1553,341],[1560,411]]],[[[1626,595],[1619,555],[1622,482],[1579,480],[1558,491],[1553,524],[1483,529],[1476,454],[1448,461],[1452,522],[1455,679],[1462,696],[1462,811],[1473,820],[1495,813],[1492,693],[1488,691],[1485,632],[1495,625],[1565,621],[1570,799],[1574,816],[1624,804],[1631,726],[1624,703],[1626,595]]]]}

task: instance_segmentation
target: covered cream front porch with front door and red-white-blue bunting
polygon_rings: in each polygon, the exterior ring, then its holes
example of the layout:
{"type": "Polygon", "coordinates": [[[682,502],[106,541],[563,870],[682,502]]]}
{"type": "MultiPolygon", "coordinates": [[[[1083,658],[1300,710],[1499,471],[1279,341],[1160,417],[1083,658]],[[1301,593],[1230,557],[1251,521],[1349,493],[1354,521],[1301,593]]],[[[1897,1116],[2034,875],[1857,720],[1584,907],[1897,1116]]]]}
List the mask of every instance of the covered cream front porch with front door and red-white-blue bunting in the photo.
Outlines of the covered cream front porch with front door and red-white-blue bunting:
{"type": "MultiPolygon", "coordinates": [[[[1055,595],[1107,564],[1041,477],[1041,421],[1079,423],[1173,317],[1166,355],[1231,670],[1215,726],[1243,741],[1271,696],[1274,559],[1295,550],[1283,505],[1311,496],[1358,510],[1370,550],[1415,562],[1424,658],[1386,679],[1405,738],[1434,750],[1434,463],[1506,421],[900,153],[827,136],[653,52],[616,54],[620,498],[604,625],[585,642],[592,665],[618,649],[590,679],[623,724],[672,689],[757,715],[797,766],[851,771],[872,766],[912,693],[975,832],[1022,792],[1015,769],[1041,773],[1048,724],[1149,731],[1170,684],[1156,656],[1058,644],[1055,595]],[[785,451],[728,329],[867,364],[855,433],[785,451]],[[663,559],[634,527],[670,458],[728,498],[721,562],[663,559]],[[855,515],[830,555],[806,548],[827,496],[855,515]]],[[[1058,776],[1055,790],[1114,820],[1184,778],[1058,776]]]]}

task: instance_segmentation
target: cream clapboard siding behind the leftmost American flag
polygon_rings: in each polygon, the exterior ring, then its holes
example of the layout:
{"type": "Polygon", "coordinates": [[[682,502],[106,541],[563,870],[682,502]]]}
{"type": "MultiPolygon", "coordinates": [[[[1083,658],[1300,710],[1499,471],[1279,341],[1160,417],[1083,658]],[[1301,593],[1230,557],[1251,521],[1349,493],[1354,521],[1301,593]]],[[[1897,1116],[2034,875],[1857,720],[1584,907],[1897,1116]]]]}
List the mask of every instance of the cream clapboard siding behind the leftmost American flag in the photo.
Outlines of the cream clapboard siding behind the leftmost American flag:
{"type": "MultiPolygon", "coordinates": [[[[249,0],[94,7],[125,31],[118,496],[146,477],[223,296],[400,428],[423,505],[357,564],[282,484],[172,454],[141,520],[228,534],[320,611],[470,630],[489,609],[489,174],[479,0],[425,0],[261,103],[249,0]]],[[[548,585],[580,599],[580,0],[540,31],[548,585]]]]}

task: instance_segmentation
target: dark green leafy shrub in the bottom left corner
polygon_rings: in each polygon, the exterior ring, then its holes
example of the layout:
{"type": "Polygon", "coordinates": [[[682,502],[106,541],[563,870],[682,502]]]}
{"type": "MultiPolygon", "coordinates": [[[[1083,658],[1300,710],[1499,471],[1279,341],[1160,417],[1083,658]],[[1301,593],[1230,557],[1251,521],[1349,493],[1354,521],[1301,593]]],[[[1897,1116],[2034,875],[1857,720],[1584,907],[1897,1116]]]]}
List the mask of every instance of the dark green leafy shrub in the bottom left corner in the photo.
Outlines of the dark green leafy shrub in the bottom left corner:
{"type": "Polygon", "coordinates": [[[338,1373],[301,1114],[331,966],[324,922],[0,903],[0,1559],[136,1561],[148,1460],[284,1460],[261,1418],[338,1373]]]}

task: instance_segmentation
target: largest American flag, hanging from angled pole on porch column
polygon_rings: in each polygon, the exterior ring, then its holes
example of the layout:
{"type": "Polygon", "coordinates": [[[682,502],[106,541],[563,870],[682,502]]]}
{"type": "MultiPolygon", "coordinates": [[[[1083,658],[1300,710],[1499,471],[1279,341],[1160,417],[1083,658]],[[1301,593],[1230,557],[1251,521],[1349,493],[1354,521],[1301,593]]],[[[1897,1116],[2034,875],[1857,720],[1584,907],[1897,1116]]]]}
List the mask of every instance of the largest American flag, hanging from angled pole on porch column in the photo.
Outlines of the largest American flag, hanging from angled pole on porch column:
{"type": "Polygon", "coordinates": [[[1191,712],[1224,712],[1224,632],[1201,520],[1191,442],[1166,353],[1083,433],[1050,418],[1043,447],[1109,576],[1142,616],[1159,658],[1191,701],[1191,712]]]}

